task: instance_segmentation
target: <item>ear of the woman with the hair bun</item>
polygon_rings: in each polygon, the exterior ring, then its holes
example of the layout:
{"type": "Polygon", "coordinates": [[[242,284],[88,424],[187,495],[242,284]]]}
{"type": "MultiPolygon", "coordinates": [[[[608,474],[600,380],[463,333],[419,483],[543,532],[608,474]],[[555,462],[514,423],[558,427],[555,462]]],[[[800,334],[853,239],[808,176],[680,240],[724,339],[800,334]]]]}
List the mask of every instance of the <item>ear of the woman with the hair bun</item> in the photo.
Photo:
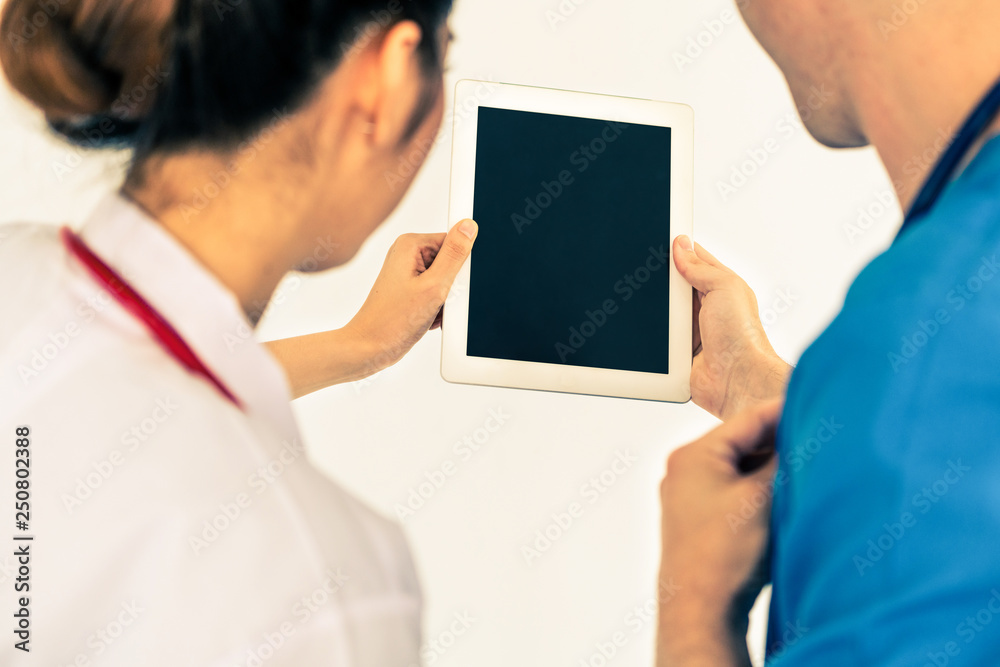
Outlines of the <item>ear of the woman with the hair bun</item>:
{"type": "Polygon", "coordinates": [[[366,54],[362,105],[374,145],[393,149],[411,125],[423,93],[424,75],[417,52],[423,31],[413,21],[392,26],[366,54]]]}

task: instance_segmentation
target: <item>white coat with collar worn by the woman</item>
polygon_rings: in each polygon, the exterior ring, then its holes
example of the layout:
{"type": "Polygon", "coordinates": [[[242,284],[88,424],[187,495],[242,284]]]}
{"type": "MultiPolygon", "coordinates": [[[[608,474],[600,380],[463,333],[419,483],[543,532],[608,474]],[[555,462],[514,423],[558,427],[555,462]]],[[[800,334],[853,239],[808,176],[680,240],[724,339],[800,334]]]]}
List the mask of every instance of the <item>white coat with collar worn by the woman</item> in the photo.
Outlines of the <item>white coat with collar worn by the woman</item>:
{"type": "Polygon", "coordinates": [[[0,613],[7,627],[28,595],[31,614],[31,653],[5,630],[0,664],[417,664],[402,532],[309,463],[283,371],[232,293],[119,196],[80,232],[245,411],[169,356],[56,229],[0,231],[0,613]],[[35,536],[27,594],[14,592],[13,534],[35,536]]]}

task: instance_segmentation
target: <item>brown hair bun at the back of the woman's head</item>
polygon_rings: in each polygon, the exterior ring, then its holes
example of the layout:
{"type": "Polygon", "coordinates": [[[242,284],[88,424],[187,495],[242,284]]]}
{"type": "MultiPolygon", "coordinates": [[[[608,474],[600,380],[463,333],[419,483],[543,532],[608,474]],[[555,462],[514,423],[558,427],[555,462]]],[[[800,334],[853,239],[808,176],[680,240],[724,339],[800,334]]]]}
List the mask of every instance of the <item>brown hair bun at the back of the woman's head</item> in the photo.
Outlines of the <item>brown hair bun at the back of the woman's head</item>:
{"type": "Polygon", "coordinates": [[[164,81],[173,13],[173,0],[8,0],[0,63],[60,131],[134,127],[164,81]]]}

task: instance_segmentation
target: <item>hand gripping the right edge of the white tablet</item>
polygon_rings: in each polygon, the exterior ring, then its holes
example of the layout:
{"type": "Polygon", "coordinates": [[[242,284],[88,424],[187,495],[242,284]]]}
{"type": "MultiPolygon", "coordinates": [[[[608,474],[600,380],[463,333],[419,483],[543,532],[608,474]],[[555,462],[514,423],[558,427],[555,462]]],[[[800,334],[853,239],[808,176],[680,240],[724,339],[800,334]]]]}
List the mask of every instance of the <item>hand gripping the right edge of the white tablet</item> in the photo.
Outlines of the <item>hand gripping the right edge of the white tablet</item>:
{"type": "Polygon", "coordinates": [[[784,396],[791,366],[764,333],[753,290],[691,239],[674,239],[674,263],[695,289],[695,404],[726,420],[743,408],[784,396]]]}

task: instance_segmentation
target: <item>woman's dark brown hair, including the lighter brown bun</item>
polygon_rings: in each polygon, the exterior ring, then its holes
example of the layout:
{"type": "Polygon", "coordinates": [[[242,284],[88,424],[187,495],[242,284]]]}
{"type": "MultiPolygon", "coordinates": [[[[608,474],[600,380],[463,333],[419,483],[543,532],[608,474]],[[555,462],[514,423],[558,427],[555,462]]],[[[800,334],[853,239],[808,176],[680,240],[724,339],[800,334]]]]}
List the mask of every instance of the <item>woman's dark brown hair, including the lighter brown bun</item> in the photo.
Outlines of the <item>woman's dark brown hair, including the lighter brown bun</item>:
{"type": "Polygon", "coordinates": [[[425,66],[439,68],[436,31],[450,9],[451,0],[8,0],[0,64],[78,143],[142,155],[225,147],[294,111],[373,29],[415,21],[425,66]]]}

